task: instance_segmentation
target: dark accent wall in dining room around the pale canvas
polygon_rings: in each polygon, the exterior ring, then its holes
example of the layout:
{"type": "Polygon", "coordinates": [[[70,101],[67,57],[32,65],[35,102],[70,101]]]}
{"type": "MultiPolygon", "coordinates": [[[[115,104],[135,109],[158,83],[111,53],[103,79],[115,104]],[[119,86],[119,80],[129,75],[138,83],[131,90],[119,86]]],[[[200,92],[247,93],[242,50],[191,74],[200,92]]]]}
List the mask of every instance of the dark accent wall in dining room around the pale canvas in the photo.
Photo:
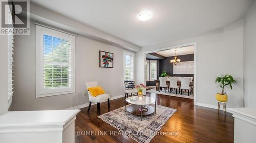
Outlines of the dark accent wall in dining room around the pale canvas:
{"type": "MultiPolygon", "coordinates": [[[[165,60],[159,60],[159,71],[158,71],[158,77],[161,73],[164,72],[164,70],[167,72],[169,76],[187,76],[187,77],[194,77],[194,74],[173,74],[174,72],[174,66],[170,63],[170,60],[173,60],[174,56],[166,57],[165,60]]],[[[186,55],[178,55],[178,59],[181,60],[181,62],[186,61],[194,61],[194,54],[186,54],[186,55]]]]}

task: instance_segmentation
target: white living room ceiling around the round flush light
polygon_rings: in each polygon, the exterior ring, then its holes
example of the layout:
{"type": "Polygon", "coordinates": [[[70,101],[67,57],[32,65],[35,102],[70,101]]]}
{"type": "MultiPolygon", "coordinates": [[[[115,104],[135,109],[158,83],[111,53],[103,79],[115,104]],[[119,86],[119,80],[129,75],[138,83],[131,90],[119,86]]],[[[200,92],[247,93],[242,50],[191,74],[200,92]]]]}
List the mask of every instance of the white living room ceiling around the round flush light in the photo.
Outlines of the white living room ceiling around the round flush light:
{"type": "Polygon", "coordinates": [[[242,18],[253,0],[31,0],[138,46],[193,36],[242,18]],[[138,13],[153,14],[140,21],[138,13]]]}

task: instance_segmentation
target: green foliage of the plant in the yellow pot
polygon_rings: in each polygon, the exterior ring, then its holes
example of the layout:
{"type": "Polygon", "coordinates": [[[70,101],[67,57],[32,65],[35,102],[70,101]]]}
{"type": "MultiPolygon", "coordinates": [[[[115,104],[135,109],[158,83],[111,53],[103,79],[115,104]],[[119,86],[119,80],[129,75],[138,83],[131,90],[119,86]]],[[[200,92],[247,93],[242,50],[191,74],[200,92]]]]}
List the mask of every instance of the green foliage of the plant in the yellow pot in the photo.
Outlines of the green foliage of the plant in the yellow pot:
{"type": "Polygon", "coordinates": [[[222,95],[224,94],[224,87],[232,89],[232,84],[236,84],[237,81],[231,75],[223,75],[215,79],[215,83],[219,83],[218,87],[222,88],[222,95]]]}

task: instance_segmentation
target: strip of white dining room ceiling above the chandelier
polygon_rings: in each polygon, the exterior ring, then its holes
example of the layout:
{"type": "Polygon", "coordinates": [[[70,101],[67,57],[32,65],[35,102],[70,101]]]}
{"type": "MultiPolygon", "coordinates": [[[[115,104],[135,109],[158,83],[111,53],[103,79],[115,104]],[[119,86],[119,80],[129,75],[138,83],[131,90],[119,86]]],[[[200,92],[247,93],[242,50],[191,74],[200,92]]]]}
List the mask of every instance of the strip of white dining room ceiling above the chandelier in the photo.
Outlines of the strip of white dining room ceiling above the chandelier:
{"type": "Polygon", "coordinates": [[[180,47],[180,48],[173,48],[169,50],[162,50],[162,51],[157,51],[156,53],[165,57],[175,56],[175,50],[177,50],[177,55],[192,54],[194,53],[194,46],[186,46],[186,47],[180,47]]]}

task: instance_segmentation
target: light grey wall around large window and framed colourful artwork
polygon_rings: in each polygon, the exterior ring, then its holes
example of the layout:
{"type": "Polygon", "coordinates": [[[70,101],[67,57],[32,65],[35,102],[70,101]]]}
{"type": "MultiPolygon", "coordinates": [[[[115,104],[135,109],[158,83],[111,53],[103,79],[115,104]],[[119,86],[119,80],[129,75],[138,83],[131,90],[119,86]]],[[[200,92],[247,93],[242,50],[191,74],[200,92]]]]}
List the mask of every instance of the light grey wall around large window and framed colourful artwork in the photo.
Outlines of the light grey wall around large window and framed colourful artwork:
{"type": "Polygon", "coordinates": [[[98,81],[111,97],[123,95],[123,51],[83,36],[76,37],[76,93],[35,98],[35,24],[30,36],[15,36],[14,96],[12,110],[64,109],[88,103],[86,82],[98,81]],[[99,68],[99,50],[114,53],[114,68],[99,68]]]}

